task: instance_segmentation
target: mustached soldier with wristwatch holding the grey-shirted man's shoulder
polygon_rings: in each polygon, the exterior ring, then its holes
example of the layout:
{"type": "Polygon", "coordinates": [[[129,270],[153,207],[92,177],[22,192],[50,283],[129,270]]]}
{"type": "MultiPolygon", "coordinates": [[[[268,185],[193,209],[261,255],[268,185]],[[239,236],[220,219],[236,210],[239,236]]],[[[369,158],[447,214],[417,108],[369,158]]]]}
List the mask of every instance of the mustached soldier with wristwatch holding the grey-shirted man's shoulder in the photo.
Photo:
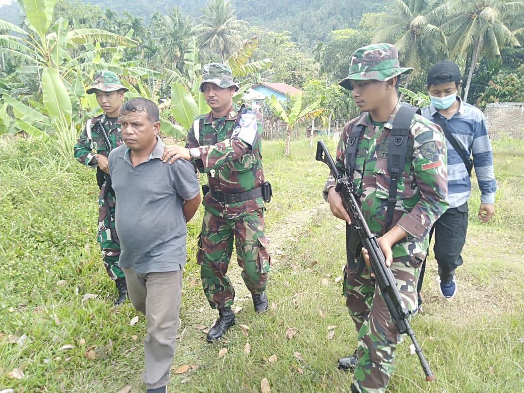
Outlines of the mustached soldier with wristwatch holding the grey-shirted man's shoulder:
{"type": "Polygon", "coordinates": [[[232,96],[238,86],[225,64],[203,67],[200,91],[211,112],[196,116],[185,148],[168,146],[165,161],[185,158],[208,175],[209,192],[196,256],[205,296],[220,318],[206,339],[219,339],[235,321],[231,309],[235,290],[226,272],[233,252],[233,239],[242,278],[252,293],[256,312],[268,307],[265,293],[270,257],[264,235],[264,183],[262,127],[257,111],[238,108],[232,96]]]}

